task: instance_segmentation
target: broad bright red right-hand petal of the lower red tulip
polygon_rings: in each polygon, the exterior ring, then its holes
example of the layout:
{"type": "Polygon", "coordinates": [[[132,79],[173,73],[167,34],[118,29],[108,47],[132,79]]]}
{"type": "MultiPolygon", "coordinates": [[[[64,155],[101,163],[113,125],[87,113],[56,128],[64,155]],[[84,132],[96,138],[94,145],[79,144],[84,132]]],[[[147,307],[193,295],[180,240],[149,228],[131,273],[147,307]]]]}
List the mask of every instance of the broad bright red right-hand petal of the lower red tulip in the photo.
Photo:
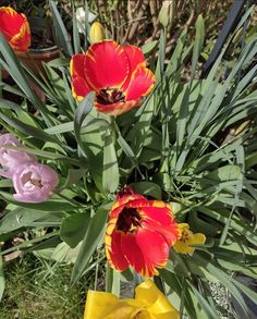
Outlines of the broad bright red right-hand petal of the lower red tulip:
{"type": "Polygon", "coordinates": [[[169,258],[169,246],[162,235],[151,230],[139,229],[135,238],[149,275],[152,275],[155,267],[163,268],[166,266],[169,258]]]}

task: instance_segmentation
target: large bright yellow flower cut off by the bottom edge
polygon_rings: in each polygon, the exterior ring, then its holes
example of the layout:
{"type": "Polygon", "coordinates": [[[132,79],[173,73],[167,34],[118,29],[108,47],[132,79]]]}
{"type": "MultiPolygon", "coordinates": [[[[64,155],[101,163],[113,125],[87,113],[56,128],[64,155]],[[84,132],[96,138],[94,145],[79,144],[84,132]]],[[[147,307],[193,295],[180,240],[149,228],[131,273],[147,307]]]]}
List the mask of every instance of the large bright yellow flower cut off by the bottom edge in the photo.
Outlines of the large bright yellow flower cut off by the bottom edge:
{"type": "Polygon", "coordinates": [[[139,284],[135,299],[119,299],[105,292],[89,291],[84,319],[179,319],[176,309],[151,280],[139,284]]]}

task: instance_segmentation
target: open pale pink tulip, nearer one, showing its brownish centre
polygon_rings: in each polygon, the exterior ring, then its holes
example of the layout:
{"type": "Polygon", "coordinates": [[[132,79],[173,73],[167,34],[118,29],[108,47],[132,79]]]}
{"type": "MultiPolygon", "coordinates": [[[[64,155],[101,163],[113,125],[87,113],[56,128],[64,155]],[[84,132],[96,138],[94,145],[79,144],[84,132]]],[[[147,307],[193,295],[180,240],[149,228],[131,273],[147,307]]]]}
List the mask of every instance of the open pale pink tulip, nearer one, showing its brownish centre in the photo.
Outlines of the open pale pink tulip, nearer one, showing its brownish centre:
{"type": "Polygon", "coordinates": [[[58,185],[58,174],[48,165],[25,163],[16,168],[12,181],[16,200],[40,203],[51,197],[52,189],[58,185]]]}

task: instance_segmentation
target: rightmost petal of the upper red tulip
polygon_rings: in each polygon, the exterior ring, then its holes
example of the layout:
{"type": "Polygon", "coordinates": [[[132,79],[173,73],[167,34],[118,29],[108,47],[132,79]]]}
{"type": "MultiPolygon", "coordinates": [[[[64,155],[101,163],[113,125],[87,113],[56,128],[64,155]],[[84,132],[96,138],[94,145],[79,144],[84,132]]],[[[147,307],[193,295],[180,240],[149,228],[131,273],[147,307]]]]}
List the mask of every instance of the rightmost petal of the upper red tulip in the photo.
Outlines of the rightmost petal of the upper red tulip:
{"type": "Polygon", "coordinates": [[[145,66],[138,66],[131,77],[131,83],[126,91],[126,100],[139,100],[148,95],[154,88],[156,82],[155,75],[145,66]]]}

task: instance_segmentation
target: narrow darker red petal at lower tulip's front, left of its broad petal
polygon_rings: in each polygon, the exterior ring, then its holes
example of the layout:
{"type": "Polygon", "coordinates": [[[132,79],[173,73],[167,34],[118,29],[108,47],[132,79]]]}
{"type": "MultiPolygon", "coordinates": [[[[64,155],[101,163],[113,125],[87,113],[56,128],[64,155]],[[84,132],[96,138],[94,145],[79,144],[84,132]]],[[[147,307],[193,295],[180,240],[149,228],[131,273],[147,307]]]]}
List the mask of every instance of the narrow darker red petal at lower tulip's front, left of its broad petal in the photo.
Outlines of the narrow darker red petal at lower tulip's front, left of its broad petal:
{"type": "Polygon", "coordinates": [[[142,273],[144,277],[152,275],[152,268],[148,271],[143,253],[133,234],[127,233],[121,236],[121,247],[127,262],[136,272],[142,273]]]}

